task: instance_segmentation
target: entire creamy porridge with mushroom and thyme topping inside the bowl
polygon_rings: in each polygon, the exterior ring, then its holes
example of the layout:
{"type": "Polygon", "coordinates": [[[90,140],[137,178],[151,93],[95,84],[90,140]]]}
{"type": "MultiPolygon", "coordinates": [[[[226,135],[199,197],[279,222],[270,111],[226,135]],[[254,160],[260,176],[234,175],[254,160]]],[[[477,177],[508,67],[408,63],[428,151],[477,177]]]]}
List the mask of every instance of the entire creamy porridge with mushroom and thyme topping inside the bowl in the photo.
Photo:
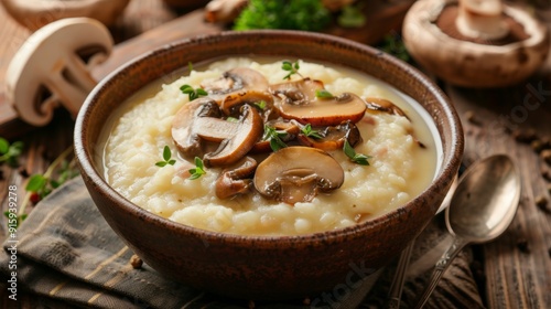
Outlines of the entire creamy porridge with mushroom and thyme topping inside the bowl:
{"type": "Polygon", "coordinates": [[[368,75],[233,57],[151,86],[106,126],[105,177],[185,225],[241,235],[352,226],[432,181],[439,145],[417,103],[368,75]]]}

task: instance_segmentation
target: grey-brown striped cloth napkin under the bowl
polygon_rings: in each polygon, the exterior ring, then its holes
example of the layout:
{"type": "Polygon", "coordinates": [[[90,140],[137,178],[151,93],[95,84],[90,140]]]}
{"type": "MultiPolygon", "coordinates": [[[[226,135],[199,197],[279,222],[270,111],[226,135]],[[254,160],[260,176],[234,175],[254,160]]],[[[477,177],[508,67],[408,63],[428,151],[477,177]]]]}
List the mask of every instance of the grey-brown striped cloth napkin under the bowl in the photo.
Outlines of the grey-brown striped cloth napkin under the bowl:
{"type": "MultiPolygon", "coordinates": [[[[19,228],[17,241],[18,288],[52,301],[93,308],[380,308],[396,264],[390,263],[355,289],[327,291],[311,299],[252,302],[210,295],[165,279],[145,264],[132,267],[132,251],[102,219],[80,178],[40,202],[19,228]]],[[[403,308],[422,292],[432,266],[449,243],[441,217],[418,237],[402,295],[403,308]]],[[[12,271],[12,245],[7,242],[0,251],[4,283],[12,271]]],[[[434,291],[429,308],[483,308],[468,262],[468,251],[464,251],[434,291]]]]}

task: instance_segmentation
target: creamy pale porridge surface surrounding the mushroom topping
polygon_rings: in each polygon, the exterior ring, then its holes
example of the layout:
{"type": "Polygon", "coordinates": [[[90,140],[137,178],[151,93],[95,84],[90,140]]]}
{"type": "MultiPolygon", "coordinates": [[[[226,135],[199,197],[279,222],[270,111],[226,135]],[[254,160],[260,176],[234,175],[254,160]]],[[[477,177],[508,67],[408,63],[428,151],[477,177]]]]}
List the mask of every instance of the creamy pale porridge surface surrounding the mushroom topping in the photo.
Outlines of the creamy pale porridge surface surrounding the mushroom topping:
{"type": "MultiPolygon", "coordinates": [[[[316,191],[309,201],[289,203],[260,194],[249,182],[246,192],[222,199],[216,194],[216,182],[224,166],[205,167],[204,174],[191,179],[195,162],[179,151],[172,132],[175,115],[190,104],[190,95],[181,87],[199,88],[236,67],[261,73],[270,85],[287,82],[283,78],[290,71],[282,70],[282,61],[248,57],[216,61],[168,84],[160,81],[121,105],[105,129],[107,181],[125,198],[160,216],[242,235],[298,235],[352,226],[404,204],[430,184],[440,146],[417,103],[349,68],[296,63],[299,74],[292,74],[291,82],[317,79],[332,96],[346,92],[366,102],[382,98],[404,114],[367,108],[355,124],[361,140],[354,151],[368,156],[368,166],[354,162],[343,149],[323,150],[342,167],[344,181],[337,189],[316,191]],[[163,159],[165,147],[171,150],[169,160],[163,159]],[[173,159],[174,164],[155,164],[173,159]]],[[[260,162],[269,154],[255,158],[260,162]]]]}

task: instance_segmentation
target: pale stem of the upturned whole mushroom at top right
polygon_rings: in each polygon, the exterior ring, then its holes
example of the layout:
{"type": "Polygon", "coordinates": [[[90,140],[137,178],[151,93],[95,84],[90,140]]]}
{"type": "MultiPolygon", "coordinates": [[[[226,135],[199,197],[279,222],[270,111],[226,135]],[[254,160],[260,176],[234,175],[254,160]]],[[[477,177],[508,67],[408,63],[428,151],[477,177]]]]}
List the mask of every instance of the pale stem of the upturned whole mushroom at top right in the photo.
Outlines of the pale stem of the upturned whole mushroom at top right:
{"type": "Polygon", "coordinates": [[[460,0],[455,25],[461,34],[482,40],[497,40],[509,33],[501,0],[460,0]]]}

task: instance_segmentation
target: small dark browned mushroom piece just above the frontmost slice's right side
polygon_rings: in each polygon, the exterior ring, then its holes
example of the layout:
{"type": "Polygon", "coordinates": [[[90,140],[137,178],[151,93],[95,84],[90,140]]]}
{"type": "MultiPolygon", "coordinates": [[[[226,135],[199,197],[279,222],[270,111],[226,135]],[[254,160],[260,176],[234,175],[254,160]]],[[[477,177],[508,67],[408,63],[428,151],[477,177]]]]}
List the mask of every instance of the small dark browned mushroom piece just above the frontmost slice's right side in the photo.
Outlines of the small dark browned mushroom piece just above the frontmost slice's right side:
{"type": "Polygon", "coordinates": [[[355,147],[363,140],[358,127],[356,127],[356,125],[352,121],[345,121],[338,126],[326,127],[323,129],[313,129],[317,130],[322,138],[317,139],[300,134],[296,137],[299,142],[307,147],[314,147],[328,151],[343,149],[346,140],[348,140],[348,143],[352,147],[355,147]]]}

